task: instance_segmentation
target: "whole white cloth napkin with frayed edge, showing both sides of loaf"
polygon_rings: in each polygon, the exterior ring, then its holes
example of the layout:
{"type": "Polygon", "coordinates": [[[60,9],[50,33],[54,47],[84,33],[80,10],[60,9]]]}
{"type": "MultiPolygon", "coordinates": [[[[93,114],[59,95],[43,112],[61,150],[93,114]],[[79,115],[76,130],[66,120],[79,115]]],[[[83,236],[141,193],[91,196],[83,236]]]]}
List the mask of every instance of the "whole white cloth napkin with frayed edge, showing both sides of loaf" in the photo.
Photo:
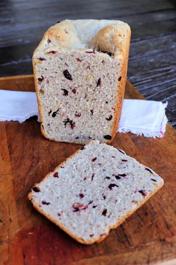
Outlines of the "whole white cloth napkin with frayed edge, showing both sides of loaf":
{"type": "MultiPolygon", "coordinates": [[[[167,102],[124,99],[119,133],[130,131],[146,137],[163,138],[166,131],[167,102]]],[[[38,116],[35,92],[0,90],[0,121],[23,122],[31,116],[38,116]]]]}

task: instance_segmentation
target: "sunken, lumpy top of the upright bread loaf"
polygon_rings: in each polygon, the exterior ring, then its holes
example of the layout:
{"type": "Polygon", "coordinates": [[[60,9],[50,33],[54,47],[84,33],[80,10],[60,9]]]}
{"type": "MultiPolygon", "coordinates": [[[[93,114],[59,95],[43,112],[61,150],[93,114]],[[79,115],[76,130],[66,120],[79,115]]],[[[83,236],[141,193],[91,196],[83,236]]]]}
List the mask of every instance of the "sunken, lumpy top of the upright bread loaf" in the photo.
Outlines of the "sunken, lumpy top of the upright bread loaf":
{"type": "Polygon", "coordinates": [[[37,51],[88,49],[110,52],[112,58],[121,58],[129,49],[131,30],[118,20],[63,20],[50,27],[44,34],[37,51]]]}

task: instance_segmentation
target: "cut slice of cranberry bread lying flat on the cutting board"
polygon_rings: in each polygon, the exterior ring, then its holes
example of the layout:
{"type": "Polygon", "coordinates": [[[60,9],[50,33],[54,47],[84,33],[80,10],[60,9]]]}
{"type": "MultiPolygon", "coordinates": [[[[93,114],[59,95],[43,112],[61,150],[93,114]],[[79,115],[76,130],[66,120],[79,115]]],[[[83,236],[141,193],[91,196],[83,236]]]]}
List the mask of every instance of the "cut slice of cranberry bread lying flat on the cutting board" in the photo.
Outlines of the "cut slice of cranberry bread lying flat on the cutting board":
{"type": "Polygon", "coordinates": [[[92,244],[102,241],[163,183],[124,151],[92,140],[35,184],[28,198],[74,239],[92,244]]]}

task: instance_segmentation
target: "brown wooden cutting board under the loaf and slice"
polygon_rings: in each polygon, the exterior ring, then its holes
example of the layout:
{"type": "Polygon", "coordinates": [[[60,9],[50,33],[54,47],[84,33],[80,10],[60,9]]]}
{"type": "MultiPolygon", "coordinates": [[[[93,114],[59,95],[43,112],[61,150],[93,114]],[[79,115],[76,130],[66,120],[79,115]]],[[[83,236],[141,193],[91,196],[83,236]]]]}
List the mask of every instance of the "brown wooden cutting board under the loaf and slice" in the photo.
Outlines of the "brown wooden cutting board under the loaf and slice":
{"type": "MultiPolygon", "coordinates": [[[[35,91],[33,76],[0,78],[0,89],[35,91]]],[[[125,98],[143,99],[128,81],[125,98]]],[[[0,128],[1,264],[176,264],[176,132],[169,124],[163,139],[116,134],[111,144],[151,167],[164,186],[105,240],[92,245],[73,240],[27,199],[33,184],[80,146],[45,139],[35,117],[0,122],[0,128]]]]}

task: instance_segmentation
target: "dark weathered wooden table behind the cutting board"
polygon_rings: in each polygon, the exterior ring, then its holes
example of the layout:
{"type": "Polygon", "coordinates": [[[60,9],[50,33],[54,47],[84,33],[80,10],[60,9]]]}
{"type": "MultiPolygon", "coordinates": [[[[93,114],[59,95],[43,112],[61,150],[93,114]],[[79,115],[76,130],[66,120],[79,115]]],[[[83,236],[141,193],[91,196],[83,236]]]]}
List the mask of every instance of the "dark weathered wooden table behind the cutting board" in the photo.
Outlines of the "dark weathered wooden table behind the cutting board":
{"type": "Polygon", "coordinates": [[[64,19],[128,23],[127,78],[146,99],[168,100],[166,114],[176,128],[175,0],[1,0],[0,77],[31,74],[35,47],[51,25],[64,19]]]}

